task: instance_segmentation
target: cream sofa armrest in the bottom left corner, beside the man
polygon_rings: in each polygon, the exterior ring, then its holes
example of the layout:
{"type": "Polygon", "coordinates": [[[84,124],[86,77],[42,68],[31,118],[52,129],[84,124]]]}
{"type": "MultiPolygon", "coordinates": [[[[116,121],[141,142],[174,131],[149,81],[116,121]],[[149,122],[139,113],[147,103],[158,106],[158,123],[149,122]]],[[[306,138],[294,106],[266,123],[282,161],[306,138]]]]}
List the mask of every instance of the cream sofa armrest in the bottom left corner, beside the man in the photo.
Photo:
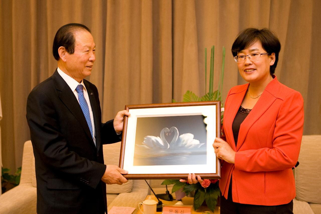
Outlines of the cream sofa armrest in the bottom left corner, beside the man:
{"type": "Polygon", "coordinates": [[[37,188],[23,183],[0,195],[1,214],[36,214],[37,188]]]}

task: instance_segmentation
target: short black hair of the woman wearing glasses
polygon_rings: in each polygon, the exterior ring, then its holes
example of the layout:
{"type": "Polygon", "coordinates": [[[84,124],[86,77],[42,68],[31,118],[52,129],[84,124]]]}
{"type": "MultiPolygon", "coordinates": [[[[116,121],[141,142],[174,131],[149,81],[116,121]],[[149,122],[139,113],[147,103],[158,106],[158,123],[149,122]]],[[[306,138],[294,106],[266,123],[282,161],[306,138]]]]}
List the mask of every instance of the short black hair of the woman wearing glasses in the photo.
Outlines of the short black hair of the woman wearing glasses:
{"type": "Polygon", "coordinates": [[[268,54],[275,54],[275,62],[270,66],[270,74],[274,74],[279,60],[281,43],[274,32],[267,28],[247,28],[239,33],[232,45],[232,54],[235,57],[239,51],[247,49],[257,40],[261,41],[263,49],[268,54]]]}

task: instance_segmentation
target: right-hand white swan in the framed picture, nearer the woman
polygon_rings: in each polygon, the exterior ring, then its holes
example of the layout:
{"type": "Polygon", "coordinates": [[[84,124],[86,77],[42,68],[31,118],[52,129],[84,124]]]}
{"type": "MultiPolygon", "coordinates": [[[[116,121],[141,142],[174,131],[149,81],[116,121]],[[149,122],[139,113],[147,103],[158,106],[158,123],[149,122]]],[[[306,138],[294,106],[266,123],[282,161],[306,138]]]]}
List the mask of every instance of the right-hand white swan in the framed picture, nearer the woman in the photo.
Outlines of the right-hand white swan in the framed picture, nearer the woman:
{"type": "Polygon", "coordinates": [[[194,139],[194,135],[191,133],[185,133],[178,137],[178,129],[176,127],[171,127],[169,129],[169,132],[173,132],[173,131],[175,132],[175,136],[169,145],[170,149],[199,148],[204,144],[204,143],[200,143],[199,140],[194,139]]]}

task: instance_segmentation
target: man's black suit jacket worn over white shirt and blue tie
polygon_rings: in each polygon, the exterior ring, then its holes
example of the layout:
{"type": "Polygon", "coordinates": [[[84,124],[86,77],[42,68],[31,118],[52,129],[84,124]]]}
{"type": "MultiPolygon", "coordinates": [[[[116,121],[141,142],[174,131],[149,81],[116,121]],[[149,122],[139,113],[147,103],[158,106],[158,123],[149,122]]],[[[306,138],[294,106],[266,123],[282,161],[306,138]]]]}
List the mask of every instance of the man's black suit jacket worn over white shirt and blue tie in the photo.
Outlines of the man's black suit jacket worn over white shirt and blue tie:
{"type": "Polygon", "coordinates": [[[106,184],[100,180],[106,170],[102,144],[118,142],[119,137],[113,120],[101,123],[96,86],[83,82],[97,147],[77,98],[57,70],[28,96],[26,116],[35,156],[39,214],[107,212],[106,184]]]}

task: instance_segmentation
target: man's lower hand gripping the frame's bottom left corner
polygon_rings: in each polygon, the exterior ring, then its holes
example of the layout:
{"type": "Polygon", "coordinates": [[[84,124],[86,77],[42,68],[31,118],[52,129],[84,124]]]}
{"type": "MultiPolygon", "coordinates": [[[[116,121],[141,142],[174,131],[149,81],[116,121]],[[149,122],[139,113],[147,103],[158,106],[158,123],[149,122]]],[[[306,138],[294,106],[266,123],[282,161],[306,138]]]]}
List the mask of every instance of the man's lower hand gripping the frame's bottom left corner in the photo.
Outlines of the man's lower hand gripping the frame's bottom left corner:
{"type": "Polygon", "coordinates": [[[102,176],[101,180],[106,184],[114,184],[117,183],[122,185],[123,183],[127,183],[128,180],[123,176],[123,174],[127,174],[128,171],[119,168],[116,165],[106,165],[106,171],[102,176]]]}

